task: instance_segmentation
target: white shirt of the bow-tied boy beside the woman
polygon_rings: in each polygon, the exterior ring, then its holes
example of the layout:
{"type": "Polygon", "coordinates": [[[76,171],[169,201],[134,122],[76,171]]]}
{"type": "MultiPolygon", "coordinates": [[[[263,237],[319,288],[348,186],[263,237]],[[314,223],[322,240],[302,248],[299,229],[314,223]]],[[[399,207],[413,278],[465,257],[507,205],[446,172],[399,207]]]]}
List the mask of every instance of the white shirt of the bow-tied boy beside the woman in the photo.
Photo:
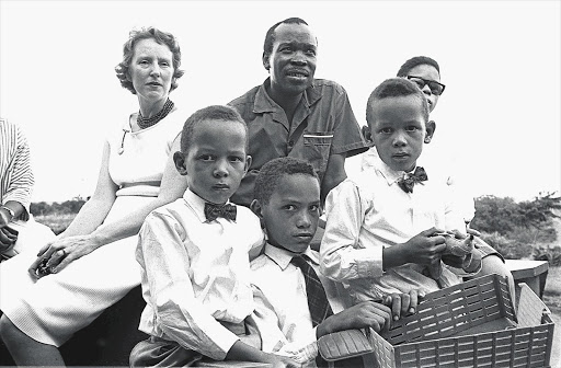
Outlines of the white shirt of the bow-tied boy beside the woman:
{"type": "Polygon", "coordinates": [[[250,209],[237,206],[234,222],[207,221],[204,206],[187,189],[147,217],[137,248],[147,302],[139,330],[221,360],[238,336],[218,321],[252,313],[249,251],[264,237],[250,209]]]}

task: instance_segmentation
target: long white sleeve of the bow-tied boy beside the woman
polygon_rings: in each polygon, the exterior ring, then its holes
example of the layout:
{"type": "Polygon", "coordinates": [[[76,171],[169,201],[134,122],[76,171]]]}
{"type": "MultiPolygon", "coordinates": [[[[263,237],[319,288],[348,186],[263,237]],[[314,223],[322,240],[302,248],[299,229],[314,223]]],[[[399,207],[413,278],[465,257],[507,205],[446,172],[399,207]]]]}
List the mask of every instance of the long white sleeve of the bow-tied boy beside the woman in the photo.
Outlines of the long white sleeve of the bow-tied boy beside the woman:
{"type": "Polygon", "coordinates": [[[222,360],[238,341],[195,298],[182,226],[169,215],[152,212],[139,233],[141,264],[159,327],[181,346],[222,360]]]}

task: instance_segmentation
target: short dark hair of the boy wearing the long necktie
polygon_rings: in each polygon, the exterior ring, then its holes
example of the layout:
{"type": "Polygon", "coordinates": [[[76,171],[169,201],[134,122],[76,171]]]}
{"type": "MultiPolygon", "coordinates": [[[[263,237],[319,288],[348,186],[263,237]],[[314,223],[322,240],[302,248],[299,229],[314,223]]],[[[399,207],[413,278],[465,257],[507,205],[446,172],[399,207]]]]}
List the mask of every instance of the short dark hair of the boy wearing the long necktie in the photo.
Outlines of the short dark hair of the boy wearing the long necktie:
{"type": "Polygon", "coordinates": [[[289,157],[273,159],[265,163],[255,179],[255,186],[253,187],[253,198],[257,199],[261,204],[266,205],[271,196],[278,186],[278,182],[285,175],[304,174],[310,175],[318,180],[313,168],[306,161],[289,157]]]}

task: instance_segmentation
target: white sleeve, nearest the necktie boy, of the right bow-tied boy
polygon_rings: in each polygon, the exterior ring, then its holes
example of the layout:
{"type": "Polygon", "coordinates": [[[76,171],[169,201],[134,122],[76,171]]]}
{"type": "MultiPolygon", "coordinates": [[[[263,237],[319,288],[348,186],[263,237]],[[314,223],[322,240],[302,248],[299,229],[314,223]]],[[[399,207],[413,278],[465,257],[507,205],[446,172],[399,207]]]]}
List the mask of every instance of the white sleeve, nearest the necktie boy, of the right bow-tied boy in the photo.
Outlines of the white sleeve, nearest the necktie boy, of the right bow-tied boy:
{"type": "Polygon", "coordinates": [[[328,221],[320,248],[320,269],[335,281],[379,277],[382,274],[382,248],[360,248],[358,243],[367,206],[358,187],[348,180],[328,195],[328,221]]]}

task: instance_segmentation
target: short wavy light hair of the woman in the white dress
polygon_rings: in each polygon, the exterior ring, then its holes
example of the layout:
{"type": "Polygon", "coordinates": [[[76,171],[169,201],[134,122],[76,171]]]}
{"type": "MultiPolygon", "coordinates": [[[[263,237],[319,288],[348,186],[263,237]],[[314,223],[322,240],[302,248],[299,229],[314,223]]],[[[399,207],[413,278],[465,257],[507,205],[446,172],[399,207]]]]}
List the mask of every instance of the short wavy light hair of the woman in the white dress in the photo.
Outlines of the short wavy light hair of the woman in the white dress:
{"type": "Polygon", "coordinates": [[[175,37],[168,32],[160,31],[154,27],[141,28],[140,31],[130,31],[128,41],[123,45],[123,61],[116,67],[117,78],[124,89],[129,90],[136,94],[133,82],[128,79],[128,68],[135,55],[135,46],[141,39],[153,39],[160,45],[165,45],[170,48],[173,55],[173,77],[171,80],[170,92],[178,88],[178,79],[180,79],[184,71],[180,69],[181,66],[181,50],[180,44],[175,37]]]}

